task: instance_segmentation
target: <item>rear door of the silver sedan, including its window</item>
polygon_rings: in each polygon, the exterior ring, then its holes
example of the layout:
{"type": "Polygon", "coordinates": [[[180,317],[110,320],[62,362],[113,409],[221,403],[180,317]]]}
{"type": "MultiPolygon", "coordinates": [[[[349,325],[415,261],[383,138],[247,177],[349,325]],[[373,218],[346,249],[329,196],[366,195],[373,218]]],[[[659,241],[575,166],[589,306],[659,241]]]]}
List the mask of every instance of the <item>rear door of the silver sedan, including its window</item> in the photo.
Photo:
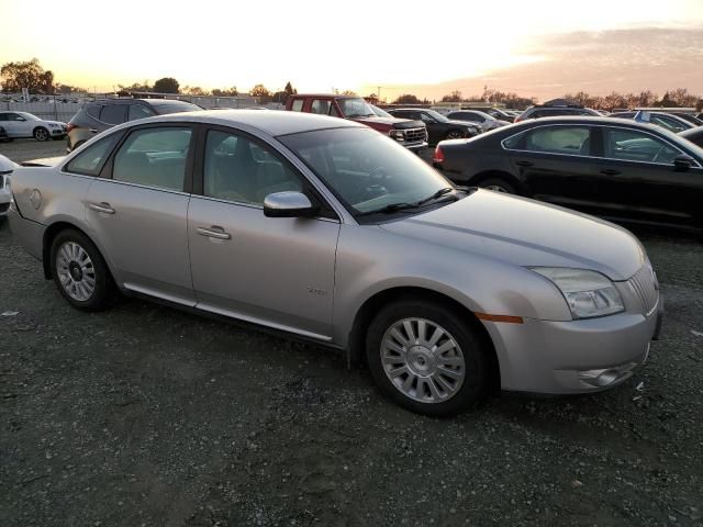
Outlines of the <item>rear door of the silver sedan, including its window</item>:
{"type": "Polygon", "coordinates": [[[86,216],[126,289],[193,305],[187,190],[192,130],[134,130],[87,197],[86,216]],[[111,166],[110,166],[111,165],[111,166]]]}

